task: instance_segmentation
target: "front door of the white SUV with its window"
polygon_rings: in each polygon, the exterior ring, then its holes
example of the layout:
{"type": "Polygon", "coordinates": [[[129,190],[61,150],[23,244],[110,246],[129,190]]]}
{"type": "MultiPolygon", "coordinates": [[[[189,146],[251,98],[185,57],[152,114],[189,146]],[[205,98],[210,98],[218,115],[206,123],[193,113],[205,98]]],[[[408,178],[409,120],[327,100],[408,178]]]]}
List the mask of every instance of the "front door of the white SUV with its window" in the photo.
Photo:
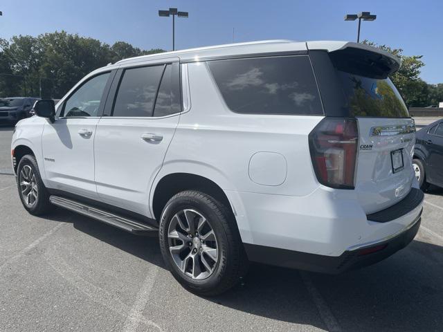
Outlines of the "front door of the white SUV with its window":
{"type": "Polygon", "coordinates": [[[48,187],[97,199],[94,137],[110,73],[84,82],[62,104],[55,122],[44,125],[42,150],[48,187]]]}

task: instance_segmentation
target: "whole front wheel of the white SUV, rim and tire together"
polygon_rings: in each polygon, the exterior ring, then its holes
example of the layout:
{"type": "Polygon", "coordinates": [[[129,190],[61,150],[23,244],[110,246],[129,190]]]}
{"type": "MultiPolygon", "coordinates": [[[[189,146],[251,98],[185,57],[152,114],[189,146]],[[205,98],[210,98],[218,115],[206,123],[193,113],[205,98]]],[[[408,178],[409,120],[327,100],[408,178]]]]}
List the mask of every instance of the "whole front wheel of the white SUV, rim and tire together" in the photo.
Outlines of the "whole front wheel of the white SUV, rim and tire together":
{"type": "Polygon", "coordinates": [[[53,205],[49,203],[49,193],[40,177],[35,157],[27,154],[17,167],[17,187],[24,208],[35,216],[45,214],[53,205]]]}

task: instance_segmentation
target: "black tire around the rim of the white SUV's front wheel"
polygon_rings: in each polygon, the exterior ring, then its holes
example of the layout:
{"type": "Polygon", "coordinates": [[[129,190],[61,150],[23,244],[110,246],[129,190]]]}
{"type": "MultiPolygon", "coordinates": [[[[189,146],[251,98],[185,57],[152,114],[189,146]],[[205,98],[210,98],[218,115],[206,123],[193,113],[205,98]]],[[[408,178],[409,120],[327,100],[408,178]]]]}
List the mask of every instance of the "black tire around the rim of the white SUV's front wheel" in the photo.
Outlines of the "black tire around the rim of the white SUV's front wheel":
{"type": "Polygon", "coordinates": [[[42,214],[48,213],[53,209],[53,205],[49,202],[48,190],[46,190],[46,187],[44,186],[42,178],[40,176],[37,160],[35,160],[35,157],[33,155],[26,154],[26,156],[23,156],[19,161],[19,166],[17,167],[17,188],[19,190],[21,203],[30,214],[40,216],[42,214]],[[35,176],[34,183],[37,189],[37,198],[35,198],[35,201],[32,205],[30,205],[26,201],[26,196],[22,192],[23,187],[20,184],[22,179],[22,172],[25,172],[28,169],[31,169],[35,176]]]}

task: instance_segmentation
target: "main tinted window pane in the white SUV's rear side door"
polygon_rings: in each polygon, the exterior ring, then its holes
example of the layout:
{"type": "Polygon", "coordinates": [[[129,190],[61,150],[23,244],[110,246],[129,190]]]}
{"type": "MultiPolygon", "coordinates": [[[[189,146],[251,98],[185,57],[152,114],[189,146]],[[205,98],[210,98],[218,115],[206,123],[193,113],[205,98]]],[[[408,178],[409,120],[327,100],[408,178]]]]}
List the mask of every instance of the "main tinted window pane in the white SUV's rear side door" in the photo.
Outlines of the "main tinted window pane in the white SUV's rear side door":
{"type": "Polygon", "coordinates": [[[164,68],[162,64],[125,69],[118,86],[112,116],[152,116],[164,68]]]}

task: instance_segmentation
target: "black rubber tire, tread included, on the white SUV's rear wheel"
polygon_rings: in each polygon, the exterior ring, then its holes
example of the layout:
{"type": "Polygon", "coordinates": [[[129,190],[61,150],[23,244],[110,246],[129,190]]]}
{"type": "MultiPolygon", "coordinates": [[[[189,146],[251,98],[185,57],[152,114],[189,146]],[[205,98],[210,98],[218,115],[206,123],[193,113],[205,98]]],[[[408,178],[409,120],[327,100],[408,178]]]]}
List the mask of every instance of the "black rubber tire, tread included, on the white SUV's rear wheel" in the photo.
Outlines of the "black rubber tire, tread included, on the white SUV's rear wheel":
{"type": "MultiPolygon", "coordinates": [[[[219,295],[235,286],[241,277],[246,274],[248,260],[239,236],[235,217],[230,209],[208,194],[187,190],[173,196],[165,205],[161,214],[159,238],[161,254],[165,264],[174,278],[192,293],[205,296],[219,295]],[[194,279],[183,273],[170,253],[168,239],[170,223],[177,213],[186,209],[195,210],[201,216],[204,216],[210,222],[210,227],[217,239],[218,259],[213,265],[212,274],[206,279],[194,279]]],[[[192,243],[191,241],[189,243],[192,243]]]]}

